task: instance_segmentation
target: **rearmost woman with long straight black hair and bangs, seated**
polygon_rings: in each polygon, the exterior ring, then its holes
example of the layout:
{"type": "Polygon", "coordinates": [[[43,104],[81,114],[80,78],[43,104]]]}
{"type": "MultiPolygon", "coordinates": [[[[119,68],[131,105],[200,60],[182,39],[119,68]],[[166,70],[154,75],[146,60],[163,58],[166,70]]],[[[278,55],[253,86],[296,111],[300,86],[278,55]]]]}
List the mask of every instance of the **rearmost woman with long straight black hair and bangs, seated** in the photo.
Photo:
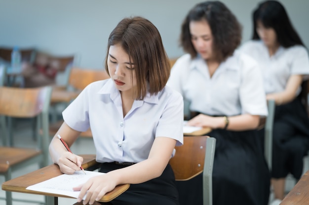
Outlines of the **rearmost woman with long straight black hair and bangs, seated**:
{"type": "Polygon", "coordinates": [[[276,104],[271,184],[278,204],[284,198],[286,176],[301,177],[309,149],[307,86],[303,83],[309,74],[309,57],[280,2],[261,2],[252,17],[252,40],[240,50],[259,62],[267,99],[276,104]]]}

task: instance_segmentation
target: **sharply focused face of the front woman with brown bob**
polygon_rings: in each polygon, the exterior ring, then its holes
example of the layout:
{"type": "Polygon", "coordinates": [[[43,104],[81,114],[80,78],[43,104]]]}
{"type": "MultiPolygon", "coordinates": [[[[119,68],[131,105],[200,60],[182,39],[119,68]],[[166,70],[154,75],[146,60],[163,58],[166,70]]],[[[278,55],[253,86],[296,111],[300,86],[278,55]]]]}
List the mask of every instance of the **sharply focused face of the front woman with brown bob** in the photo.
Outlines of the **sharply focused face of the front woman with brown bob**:
{"type": "Polygon", "coordinates": [[[136,86],[134,62],[119,44],[110,46],[107,59],[108,70],[116,88],[122,92],[133,92],[136,86]]]}

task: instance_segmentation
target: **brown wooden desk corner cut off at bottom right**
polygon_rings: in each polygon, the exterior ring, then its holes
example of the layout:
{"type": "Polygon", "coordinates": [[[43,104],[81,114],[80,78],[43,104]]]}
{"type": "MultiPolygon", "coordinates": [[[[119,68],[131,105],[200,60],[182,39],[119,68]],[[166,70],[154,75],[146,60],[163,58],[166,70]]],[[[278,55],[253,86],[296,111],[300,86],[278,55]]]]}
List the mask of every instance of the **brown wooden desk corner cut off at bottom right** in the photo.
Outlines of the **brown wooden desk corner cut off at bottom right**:
{"type": "Polygon", "coordinates": [[[302,176],[280,205],[309,205],[309,171],[302,176]]]}

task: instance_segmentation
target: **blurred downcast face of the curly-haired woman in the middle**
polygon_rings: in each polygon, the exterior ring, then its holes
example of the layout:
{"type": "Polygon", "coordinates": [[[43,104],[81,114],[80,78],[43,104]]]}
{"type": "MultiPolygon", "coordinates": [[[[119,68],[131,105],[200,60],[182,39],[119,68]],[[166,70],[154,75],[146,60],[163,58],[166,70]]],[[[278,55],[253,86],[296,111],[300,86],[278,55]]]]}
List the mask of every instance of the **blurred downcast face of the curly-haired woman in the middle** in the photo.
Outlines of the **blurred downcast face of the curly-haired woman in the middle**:
{"type": "Polygon", "coordinates": [[[194,49],[205,60],[213,59],[213,36],[206,20],[191,21],[189,24],[194,49]]]}

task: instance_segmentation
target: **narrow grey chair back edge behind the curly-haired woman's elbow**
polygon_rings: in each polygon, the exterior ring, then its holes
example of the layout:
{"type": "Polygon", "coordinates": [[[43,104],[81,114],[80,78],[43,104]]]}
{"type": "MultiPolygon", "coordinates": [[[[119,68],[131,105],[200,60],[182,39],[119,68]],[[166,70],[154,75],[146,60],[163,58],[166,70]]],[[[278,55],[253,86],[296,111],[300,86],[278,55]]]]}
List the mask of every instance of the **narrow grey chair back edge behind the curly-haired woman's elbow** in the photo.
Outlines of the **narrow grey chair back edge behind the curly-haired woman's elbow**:
{"type": "Polygon", "coordinates": [[[265,122],[264,155],[265,155],[268,167],[271,170],[272,127],[273,127],[273,119],[274,119],[274,112],[275,112],[274,100],[268,100],[267,107],[268,107],[268,116],[266,117],[266,122],[265,122]]]}

